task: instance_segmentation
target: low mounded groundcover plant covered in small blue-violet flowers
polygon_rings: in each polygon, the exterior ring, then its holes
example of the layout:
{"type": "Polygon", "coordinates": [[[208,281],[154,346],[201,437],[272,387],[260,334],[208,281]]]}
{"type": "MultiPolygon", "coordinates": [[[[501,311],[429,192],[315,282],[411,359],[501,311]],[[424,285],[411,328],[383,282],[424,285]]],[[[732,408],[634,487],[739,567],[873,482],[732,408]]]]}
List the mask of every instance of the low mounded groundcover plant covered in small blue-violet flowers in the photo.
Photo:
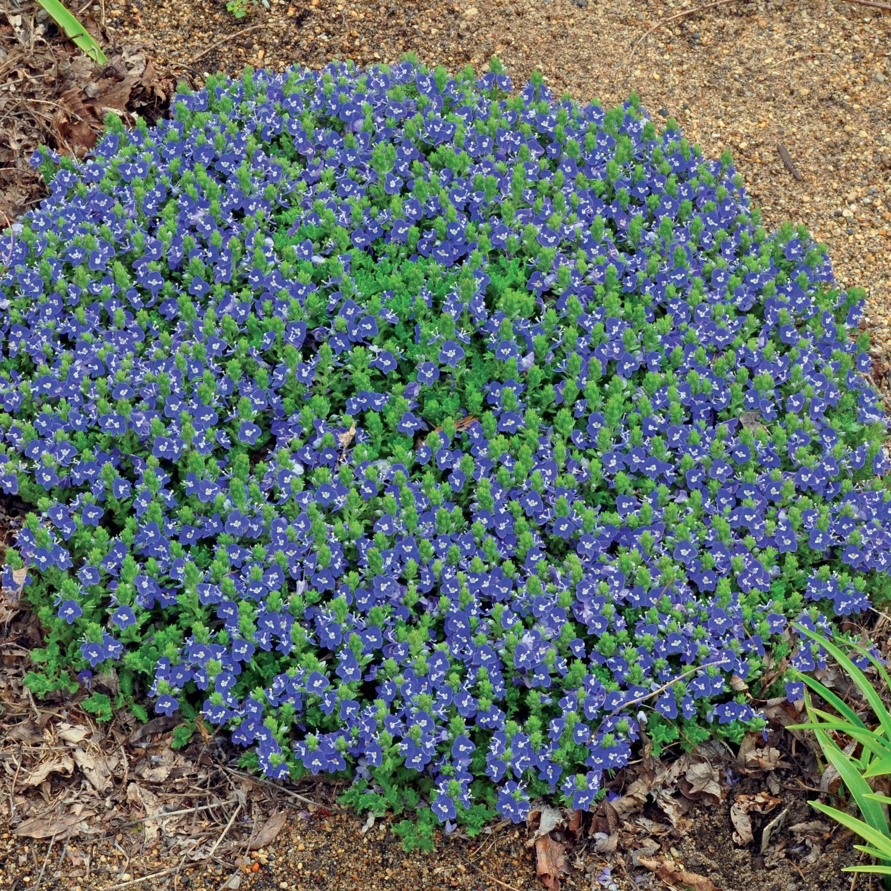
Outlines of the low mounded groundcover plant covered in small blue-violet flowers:
{"type": "Polygon", "coordinates": [[[790,620],[887,600],[860,295],[636,97],[248,69],[36,163],[0,279],[33,690],[114,667],[100,715],[147,691],[473,831],[590,808],[642,732],[740,740],[734,674],[822,659],[790,620]]]}

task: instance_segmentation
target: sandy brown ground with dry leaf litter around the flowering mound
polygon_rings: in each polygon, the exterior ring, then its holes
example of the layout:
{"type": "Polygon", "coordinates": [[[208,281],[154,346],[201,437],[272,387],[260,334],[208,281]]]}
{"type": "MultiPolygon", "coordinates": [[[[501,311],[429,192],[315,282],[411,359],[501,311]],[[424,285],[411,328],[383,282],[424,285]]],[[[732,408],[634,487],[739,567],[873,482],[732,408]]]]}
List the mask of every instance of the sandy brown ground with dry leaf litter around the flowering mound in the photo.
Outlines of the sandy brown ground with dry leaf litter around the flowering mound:
{"type": "MultiPolygon", "coordinates": [[[[317,67],[332,58],[396,61],[406,52],[452,70],[469,62],[482,67],[497,54],[515,83],[539,69],[553,92],[582,101],[620,102],[634,89],[658,122],[674,117],[707,154],[731,149],[766,225],[803,222],[829,245],[838,280],[867,292],[874,377],[887,391],[891,15],[829,0],[738,0],[694,15],[686,14],[690,0],[268,2],[268,9],[259,5],[241,19],[227,12],[225,0],[87,3],[81,12],[88,28],[110,57],[117,53],[119,70],[112,77],[75,65],[54,95],[70,100],[68,91],[83,86],[77,78],[92,78],[93,86],[77,93],[80,100],[110,102],[111,94],[122,113],[157,113],[175,78],[197,86],[211,71],[237,74],[246,63],[317,67]],[[121,83],[126,96],[119,95],[121,83]],[[780,145],[794,170],[781,159],[780,145]]],[[[5,127],[7,115],[25,114],[22,91],[37,75],[20,66],[24,73],[11,79],[16,35],[2,20],[0,9],[5,127]]],[[[53,77],[59,42],[35,42],[50,53],[42,76],[53,77]]],[[[65,102],[69,110],[77,104],[65,102]]],[[[66,115],[52,119],[52,133],[77,148],[83,134],[76,116],[66,115]]],[[[90,127],[97,120],[94,114],[90,127]]],[[[12,213],[39,196],[16,173],[27,140],[20,149],[8,143],[0,144],[0,207],[12,213]]],[[[250,781],[212,737],[174,752],[163,722],[140,730],[119,715],[98,727],[76,706],[31,702],[20,677],[37,629],[8,605],[0,608],[0,887],[544,887],[536,877],[535,824],[532,830],[497,825],[477,839],[440,837],[434,854],[405,854],[392,820],[368,826],[363,816],[340,812],[336,790],[323,786],[282,790],[250,781]]],[[[617,806],[634,789],[649,789],[650,796],[618,819],[604,808],[593,822],[551,833],[557,853],[566,848],[561,887],[656,889],[666,887],[660,875],[671,880],[667,887],[688,884],[695,891],[871,887],[863,877],[853,885],[840,871],[855,860],[851,838],[833,832],[807,805],[820,782],[816,765],[800,746],[791,748],[781,723],[771,742],[781,764],[767,772],[748,770],[734,753],[715,755],[708,770],[717,794],[683,780],[661,789],[648,764],[620,774],[617,806]],[[753,841],[740,845],[732,807],[758,796],[769,801],[769,812],[753,814],[753,841]],[[694,874],[693,886],[678,878],[682,864],[694,874]]],[[[550,875],[544,878],[556,887],[550,875]]]]}

